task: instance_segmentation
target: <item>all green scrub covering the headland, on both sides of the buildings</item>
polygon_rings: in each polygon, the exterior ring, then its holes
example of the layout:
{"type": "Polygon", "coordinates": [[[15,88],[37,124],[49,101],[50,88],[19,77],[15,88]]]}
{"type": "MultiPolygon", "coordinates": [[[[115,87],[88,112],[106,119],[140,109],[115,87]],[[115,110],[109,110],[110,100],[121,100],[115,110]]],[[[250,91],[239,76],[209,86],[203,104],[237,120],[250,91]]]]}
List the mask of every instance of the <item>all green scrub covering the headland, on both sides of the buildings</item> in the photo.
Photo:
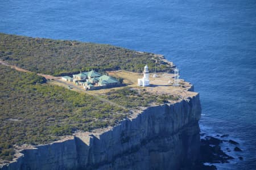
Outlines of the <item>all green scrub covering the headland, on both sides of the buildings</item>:
{"type": "MultiPolygon", "coordinates": [[[[36,73],[63,75],[88,69],[141,72],[145,63],[152,71],[159,57],[112,45],[0,33],[0,59],[32,71],[24,73],[0,65],[0,160],[13,159],[14,145],[39,145],[77,130],[113,126],[127,117],[129,110],[178,99],[150,94],[140,87],[92,96],[47,83],[36,73]]],[[[158,71],[172,70],[166,61],[156,66],[158,71]]]]}

